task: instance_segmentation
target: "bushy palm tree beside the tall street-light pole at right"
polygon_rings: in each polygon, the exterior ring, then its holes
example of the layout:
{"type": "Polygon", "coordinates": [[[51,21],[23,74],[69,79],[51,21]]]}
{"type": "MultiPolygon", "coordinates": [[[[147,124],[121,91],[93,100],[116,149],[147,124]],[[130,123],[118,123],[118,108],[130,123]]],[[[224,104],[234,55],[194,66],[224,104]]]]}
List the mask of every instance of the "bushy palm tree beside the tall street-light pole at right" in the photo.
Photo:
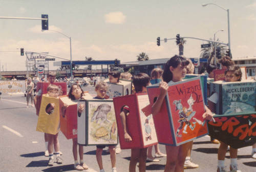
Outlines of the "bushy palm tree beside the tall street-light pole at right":
{"type": "MultiPolygon", "coordinates": [[[[210,38],[210,40],[212,40],[210,38]]],[[[220,41],[219,38],[216,41],[220,41]]],[[[211,44],[211,47],[203,48],[201,50],[201,55],[200,58],[207,58],[208,59],[208,64],[214,64],[214,59],[215,59],[215,43],[214,42],[208,42],[208,44],[211,44]]],[[[216,49],[217,48],[221,49],[221,56],[223,56],[226,52],[225,46],[222,44],[216,44],[216,49]]]]}

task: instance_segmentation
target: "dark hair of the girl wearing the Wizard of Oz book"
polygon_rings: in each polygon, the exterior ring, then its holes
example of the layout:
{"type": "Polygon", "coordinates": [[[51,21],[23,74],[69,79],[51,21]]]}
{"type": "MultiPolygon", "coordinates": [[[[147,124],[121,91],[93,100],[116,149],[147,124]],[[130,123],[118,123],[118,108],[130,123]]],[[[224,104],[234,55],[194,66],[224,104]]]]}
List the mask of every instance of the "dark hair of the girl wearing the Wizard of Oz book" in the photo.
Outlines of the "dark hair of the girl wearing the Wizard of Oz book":
{"type": "Polygon", "coordinates": [[[170,72],[170,67],[177,68],[179,64],[184,67],[189,64],[189,61],[185,57],[175,55],[166,62],[162,75],[163,81],[168,83],[173,79],[173,73],[170,72]]]}

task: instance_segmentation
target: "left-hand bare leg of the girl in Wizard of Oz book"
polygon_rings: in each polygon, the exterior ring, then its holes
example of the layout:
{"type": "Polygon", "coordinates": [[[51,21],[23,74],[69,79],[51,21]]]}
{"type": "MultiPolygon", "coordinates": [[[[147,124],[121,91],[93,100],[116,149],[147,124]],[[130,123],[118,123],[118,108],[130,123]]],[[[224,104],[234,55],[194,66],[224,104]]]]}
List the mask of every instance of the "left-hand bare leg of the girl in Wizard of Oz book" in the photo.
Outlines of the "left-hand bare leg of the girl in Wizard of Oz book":
{"type": "Polygon", "coordinates": [[[166,164],[164,172],[174,172],[177,164],[180,146],[165,145],[166,150],[166,164]]]}

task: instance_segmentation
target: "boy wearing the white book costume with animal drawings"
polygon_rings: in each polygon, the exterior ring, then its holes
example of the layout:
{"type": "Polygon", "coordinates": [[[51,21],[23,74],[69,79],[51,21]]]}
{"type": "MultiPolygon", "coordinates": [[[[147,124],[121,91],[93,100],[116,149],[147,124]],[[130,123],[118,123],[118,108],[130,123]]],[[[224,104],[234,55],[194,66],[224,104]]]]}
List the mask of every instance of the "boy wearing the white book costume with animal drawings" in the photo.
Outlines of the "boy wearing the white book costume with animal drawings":
{"type": "MultiPolygon", "coordinates": [[[[99,81],[95,85],[95,92],[97,93],[97,96],[94,97],[94,99],[105,99],[106,90],[108,89],[108,84],[103,81],[99,81]]],[[[100,172],[104,172],[103,169],[103,163],[102,163],[102,152],[103,148],[105,148],[105,145],[97,145],[96,146],[96,159],[99,165],[100,172]]],[[[116,172],[116,148],[115,145],[109,145],[109,151],[110,151],[110,159],[112,164],[112,172],[116,172]]]]}

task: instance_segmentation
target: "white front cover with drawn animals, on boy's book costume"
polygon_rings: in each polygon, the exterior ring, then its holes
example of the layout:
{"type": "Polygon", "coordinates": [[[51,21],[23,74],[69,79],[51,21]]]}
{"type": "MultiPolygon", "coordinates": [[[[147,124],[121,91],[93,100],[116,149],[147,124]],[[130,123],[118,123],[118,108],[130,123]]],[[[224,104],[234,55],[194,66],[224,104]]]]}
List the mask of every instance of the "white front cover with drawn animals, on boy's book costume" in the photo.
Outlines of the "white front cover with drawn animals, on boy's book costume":
{"type": "Polygon", "coordinates": [[[88,102],[88,143],[117,143],[117,126],[113,102],[88,102]]]}

